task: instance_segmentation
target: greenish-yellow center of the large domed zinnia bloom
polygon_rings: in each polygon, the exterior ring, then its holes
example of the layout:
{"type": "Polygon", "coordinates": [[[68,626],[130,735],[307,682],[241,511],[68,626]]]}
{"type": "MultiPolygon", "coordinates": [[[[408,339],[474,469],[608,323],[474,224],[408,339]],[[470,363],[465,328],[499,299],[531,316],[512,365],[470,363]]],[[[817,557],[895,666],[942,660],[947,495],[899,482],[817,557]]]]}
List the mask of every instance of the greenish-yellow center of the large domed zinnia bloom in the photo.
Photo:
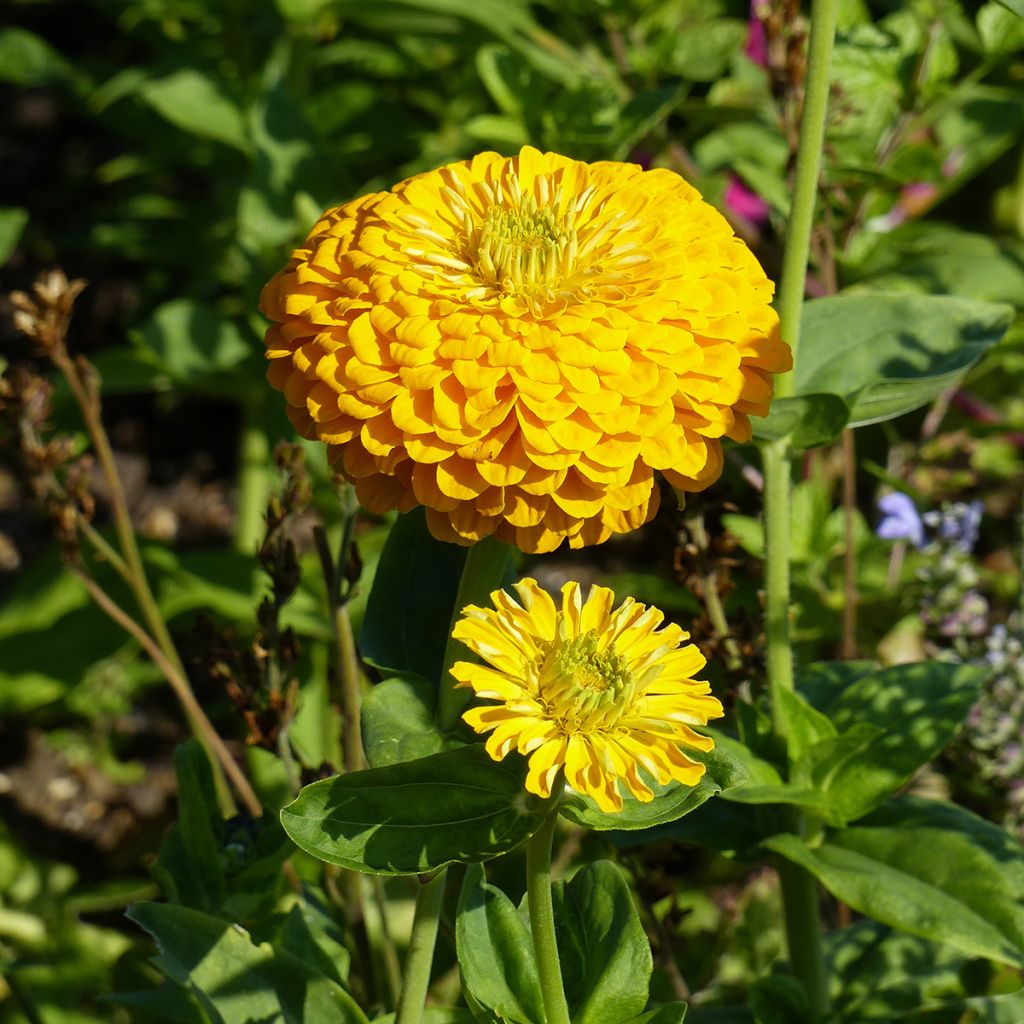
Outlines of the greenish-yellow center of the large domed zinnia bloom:
{"type": "Polygon", "coordinates": [[[467,254],[474,270],[508,295],[553,289],[572,272],[575,229],[559,223],[532,196],[518,207],[489,207],[474,234],[467,254]]]}

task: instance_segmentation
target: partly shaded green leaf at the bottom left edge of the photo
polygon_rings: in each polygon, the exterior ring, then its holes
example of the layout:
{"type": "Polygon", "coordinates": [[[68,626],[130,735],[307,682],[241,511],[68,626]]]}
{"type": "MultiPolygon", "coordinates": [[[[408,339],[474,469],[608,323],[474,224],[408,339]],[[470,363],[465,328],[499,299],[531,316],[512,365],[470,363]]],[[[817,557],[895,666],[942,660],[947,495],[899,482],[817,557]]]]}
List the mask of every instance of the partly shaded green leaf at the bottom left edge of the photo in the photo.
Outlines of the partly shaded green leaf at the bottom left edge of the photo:
{"type": "Polygon", "coordinates": [[[216,1021],[366,1024],[352,997],[302,961],[239,925],[183,906],[137,903],[128,916],[160,946],[157,965],[216,1021]]]}

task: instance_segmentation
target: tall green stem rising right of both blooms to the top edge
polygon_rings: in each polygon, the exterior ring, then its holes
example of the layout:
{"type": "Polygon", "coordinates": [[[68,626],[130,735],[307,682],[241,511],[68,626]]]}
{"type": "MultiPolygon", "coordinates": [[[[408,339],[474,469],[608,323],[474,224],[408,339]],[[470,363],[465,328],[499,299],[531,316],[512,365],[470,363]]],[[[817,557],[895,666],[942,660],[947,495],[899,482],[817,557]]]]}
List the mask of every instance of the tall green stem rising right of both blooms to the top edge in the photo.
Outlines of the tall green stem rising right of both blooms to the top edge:
{"type": "MultiPolygon", "coordinates": [[[[814,0],[804,111],[793,189],[793,209],[782,260],[778,313],[782,337],[793,349],[794,365],[800,350],[800,318],[804,304],[807,259],[814,226],[814,203],[821,170],[825,114],[828,106],[828,73],[839,0],[814,0]]],[[[793,374],[780,377],[775,393],[793,393],[793,374]]],[[[787,723],[778,699],[781,690],[794,687],[793,649],[790,637],[790,529],[792,467],[784,441],[764,449],[765,474],[765,636],[768,646],[768,680],[775,728],[783,736],[787,723]]],[[[796,822],[798,830],[802,822],[796,822]]],[[[779,866],[785,938],[790,966],[803,984],[811,1011],[821,1018],[828,1012],[828,990],[821,948],[818,890],[813,877],[795,864],[779,866]]]]}

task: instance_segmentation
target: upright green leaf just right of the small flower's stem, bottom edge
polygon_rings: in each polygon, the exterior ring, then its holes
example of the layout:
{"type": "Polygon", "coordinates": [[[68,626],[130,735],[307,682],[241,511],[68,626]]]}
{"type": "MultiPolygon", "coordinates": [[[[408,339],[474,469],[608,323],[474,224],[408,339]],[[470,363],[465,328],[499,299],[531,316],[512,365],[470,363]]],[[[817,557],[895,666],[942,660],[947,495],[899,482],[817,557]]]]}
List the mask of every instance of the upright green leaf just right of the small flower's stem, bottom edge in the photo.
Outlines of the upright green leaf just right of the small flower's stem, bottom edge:
{"type": "MultiPolygon", "coordinates": [[[[650,942],[620,869],[599,860],[552,886],[572,1024],[621,1024],[647,1005],[650,942]]],[[[541,1020],[543,1018],[537,1018],[541,1020]]]]}

